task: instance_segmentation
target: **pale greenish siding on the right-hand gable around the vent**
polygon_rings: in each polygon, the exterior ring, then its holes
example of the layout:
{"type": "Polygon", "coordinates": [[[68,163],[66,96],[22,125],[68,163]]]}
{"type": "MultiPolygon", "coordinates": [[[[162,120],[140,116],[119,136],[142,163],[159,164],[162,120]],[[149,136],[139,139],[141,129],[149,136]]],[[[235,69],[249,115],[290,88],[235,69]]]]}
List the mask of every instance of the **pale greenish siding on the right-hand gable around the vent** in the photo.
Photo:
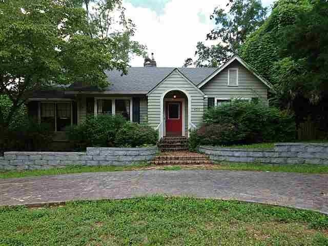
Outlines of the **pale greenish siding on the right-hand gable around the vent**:
{"type": "Polygon", "coordinates": [[[216,75],[201,90],[208,97],[268,99],[268,87],[237,60],[216,75]],[[238,86],[228,86],[228,69],[238,68],[238,86]]]}

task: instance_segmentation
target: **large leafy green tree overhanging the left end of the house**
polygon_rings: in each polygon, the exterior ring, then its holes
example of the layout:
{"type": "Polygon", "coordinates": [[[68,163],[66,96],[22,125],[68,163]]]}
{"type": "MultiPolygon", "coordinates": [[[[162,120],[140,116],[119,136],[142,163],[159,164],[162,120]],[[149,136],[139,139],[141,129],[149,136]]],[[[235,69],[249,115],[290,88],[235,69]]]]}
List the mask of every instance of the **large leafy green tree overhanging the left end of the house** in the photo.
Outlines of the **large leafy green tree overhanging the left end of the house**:
{"type": "MultiPolygon", "coordinates": [[[[130,21],[103,38],[76,0],[0,1],[0,12],[0,94],[12,101],[8,114],[0,108],[0,136],[33,91],[74,82],[104,88],[106,70],[126,73],[130,52],[141,53],[130,42],[130,21]]],[[[4,145],[0,138],[0,150],[4,145]]]]}

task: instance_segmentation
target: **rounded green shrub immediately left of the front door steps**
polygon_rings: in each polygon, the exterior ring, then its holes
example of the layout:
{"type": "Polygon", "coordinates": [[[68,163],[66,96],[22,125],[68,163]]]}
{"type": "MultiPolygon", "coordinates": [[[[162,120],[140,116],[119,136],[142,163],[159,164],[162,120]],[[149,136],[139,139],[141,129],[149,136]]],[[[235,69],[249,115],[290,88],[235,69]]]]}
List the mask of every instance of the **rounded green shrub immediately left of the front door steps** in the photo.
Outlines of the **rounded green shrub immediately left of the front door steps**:
{"type": "Polygon", "coordinates": [[[118,131],[115,139],[117,147],[139,147],[156,145],[158,133],[152,127],[132,122],[126,124],[118,131]]]}

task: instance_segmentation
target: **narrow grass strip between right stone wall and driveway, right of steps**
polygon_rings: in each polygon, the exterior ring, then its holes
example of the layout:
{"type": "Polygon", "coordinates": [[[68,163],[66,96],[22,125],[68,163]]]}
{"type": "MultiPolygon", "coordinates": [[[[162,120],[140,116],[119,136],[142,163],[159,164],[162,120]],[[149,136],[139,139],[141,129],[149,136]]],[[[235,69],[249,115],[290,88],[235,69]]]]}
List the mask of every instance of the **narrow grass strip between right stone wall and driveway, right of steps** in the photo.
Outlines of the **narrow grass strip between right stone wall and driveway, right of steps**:
{"type": "Polygon", "coordinates": [[[288,173],[328,173],[328,165],[272,165],[261,163],[217,162],[216,170],[269,171],[288,173]]]}

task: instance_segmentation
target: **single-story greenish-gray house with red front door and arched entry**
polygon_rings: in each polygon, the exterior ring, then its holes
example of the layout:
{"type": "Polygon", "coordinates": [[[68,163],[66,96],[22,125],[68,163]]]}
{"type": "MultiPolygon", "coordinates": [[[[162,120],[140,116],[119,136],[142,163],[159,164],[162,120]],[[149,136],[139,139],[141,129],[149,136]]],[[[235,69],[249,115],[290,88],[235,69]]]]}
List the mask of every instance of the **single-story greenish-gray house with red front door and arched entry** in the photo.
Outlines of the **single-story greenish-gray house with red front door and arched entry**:
{"type": "Polygon", "coordinates": [[[74,84],[65,91],[37,92],[31,116],[48,122],[57,135],[87,115],[122,114],[149,124],[162,136],[186,136],[201,124],[204,111],[234,98],[266,102],[272,85],[238,55],[220,68],[161,68],[154,58],[127,75],[108,71],[111,85],[100,91],[74,84]]]}

